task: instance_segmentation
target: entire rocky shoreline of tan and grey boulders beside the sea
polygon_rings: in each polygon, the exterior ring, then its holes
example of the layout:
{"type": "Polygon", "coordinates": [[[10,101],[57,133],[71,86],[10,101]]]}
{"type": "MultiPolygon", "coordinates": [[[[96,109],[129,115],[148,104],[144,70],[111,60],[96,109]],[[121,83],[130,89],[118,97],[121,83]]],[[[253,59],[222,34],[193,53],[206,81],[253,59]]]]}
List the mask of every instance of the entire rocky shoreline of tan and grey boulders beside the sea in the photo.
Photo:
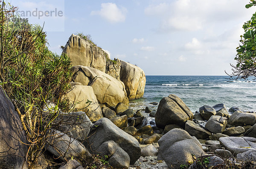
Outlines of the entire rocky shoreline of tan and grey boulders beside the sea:
{"type": "MultiPolygon", "coordinates": [[[[73,61],[73,89],[62,99],[73,103],[73,111],[60,111],[58,124],[51,124],[52,135],[36,169],[94,169],[93,155],[101,156],[99,163],[118,169],[225,168],[227,161],[234,166],[256,161],[256,113],[237,107],[228,111],[221,103],[201,106],[193,114],[176,95],[133,110],[129,100],[144,94],[142,69],[111,60],[103,49],[73,34],[63,53],[73,61]]],[[[17,142],[26,143],[26,134],[2,89],[0,100],[1,127],[7,128],[1,136],[14,140],[9,145],[3,139],[2,145],[20,151],[20,156],[0,153],[0,161],[8,161],[10,169],[26,168],[28,147],[17,142]]],[[[49,101],[43,110],[55,108],[49,101]]]]}

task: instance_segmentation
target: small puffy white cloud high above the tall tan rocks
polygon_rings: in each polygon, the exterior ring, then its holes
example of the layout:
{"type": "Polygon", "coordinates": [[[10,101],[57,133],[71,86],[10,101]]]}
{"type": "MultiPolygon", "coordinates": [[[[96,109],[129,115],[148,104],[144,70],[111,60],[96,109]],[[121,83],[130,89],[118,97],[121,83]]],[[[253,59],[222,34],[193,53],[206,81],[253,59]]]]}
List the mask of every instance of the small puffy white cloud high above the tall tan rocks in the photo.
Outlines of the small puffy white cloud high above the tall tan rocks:
{"type": "Polygon", "coordinates": [[[118,8],[115,3],[102,3],[100,11],[91,11],[91,15],[99,15],[111,23],[124,22],[126,13],[126,8],[118,8]]]}

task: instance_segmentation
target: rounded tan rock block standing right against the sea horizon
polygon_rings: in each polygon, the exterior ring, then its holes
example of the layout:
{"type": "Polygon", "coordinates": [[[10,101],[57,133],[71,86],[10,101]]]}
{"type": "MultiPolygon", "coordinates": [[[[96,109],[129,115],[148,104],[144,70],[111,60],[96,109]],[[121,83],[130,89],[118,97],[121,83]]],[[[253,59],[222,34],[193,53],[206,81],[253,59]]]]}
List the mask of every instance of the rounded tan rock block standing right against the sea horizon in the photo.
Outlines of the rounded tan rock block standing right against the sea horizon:
{"type": "Polygon", "coordinates": [[[146,84],[145,73],[138,66],[121,61],[120,80],[130,100],[143,97],[146,84]]]}

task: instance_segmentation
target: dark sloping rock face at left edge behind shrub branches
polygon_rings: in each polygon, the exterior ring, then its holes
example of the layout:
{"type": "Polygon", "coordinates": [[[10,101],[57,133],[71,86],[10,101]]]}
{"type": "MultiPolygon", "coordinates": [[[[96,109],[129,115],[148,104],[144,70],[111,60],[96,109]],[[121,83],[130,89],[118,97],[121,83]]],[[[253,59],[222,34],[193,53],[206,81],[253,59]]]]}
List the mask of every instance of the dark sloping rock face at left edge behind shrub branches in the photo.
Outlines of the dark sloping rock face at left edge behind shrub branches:
{"type": "Polygon", "coordinates": [[[26,137],[19,115],[0,86],[0,168],[26,169],[26,137]],[[23,143],[21,143],[22,141],[23,143]]]}

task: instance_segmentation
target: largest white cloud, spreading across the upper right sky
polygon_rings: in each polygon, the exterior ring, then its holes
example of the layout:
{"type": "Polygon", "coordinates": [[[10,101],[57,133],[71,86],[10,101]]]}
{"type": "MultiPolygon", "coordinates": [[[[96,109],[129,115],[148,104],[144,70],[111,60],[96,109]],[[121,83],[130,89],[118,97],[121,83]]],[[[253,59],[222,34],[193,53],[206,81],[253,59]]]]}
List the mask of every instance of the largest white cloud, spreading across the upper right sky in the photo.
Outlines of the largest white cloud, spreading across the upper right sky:
{"type": "MultiPolygon", "coordinates": [[[[154,3],[155,2],[155,3],[154,3]]],[[[168,3],[156,3],[144,9],[144,13],[160,20],[158,31],[198,31],[216,23],[243,18],[251,9],[241,11],[246,3],[241,0],[175,0],[168,3]],[[237,12],[241,11],[241,12],[237,12]]]]}

